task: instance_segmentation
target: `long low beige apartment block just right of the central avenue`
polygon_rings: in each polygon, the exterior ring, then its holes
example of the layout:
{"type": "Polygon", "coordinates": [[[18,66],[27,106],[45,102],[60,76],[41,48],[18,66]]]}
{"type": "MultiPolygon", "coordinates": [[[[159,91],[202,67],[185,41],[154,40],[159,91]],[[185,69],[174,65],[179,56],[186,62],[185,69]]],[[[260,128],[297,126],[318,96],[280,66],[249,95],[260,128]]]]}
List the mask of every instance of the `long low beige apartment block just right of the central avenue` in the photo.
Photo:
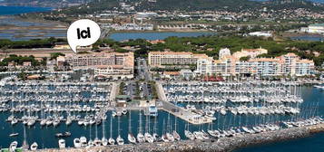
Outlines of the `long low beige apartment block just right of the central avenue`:
{"type": "Polygon", "coordinates": [[[201,59],[212,60],[206,54],[192,52],[149,52],[148,56],[149,65],[152,67],[197,64],[197,61],[201,59]]]}

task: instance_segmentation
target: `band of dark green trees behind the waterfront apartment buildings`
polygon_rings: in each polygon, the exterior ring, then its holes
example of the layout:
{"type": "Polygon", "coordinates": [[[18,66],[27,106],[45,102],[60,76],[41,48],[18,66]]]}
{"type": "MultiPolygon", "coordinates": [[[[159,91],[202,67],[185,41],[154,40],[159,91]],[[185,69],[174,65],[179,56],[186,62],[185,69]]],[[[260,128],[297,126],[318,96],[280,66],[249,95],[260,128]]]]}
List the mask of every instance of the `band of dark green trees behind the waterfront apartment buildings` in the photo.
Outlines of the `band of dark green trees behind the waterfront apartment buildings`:
{"type": "MultiPolygon", "coordinates": [[[[0,41],[0,48],[51,48],[54,47],[54,43],[62,42],[66,42],[66,40],[54,38],[20,42],[4,40],[0,41]]],[[[94,45],[98,46],[98,48],[108,46],[117,52],[132,51],[134,52],[136,58],[146,58],[148,52],[172,51],[206,53],[214,59],[218,58],[221,48],[229,48],[231,53],[233,53],[241,51],[241,49],[255,49],[261,47],[267,49],[268,53],[261,54],[259,57],[277,57],[284,53],[294,52],[302,59],[314,60],[317,66],[320,66],[324,62],[323,42],[292,41],[285,39],[276,41],[272,38],[245,37],[234,34],[219,34],[200,37],[169,37],[164,40],[164,43],[150,43],[143,39],[129,40],[127,42],[117,42],[111,39],[103,39],[94,45]],[[132,47],[133,49],[125,49],[124,47],[126,46],[132,47]]],[[[8,52],[8,50],[6,52],[8,52]]],[[[59,54],[53,54],[52,57],[58,55],[59,54]]]]}

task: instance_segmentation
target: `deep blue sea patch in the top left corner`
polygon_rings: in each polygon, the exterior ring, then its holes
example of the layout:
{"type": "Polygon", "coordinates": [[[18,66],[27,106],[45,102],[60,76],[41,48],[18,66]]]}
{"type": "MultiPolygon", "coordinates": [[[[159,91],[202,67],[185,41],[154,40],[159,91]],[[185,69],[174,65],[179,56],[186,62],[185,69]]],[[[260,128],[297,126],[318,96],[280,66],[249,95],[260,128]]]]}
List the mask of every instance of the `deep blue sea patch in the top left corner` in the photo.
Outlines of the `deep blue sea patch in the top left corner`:
{"type": "Polygon", "coordinates": [[[3,6],[3,5],[0,5],[0,15],[46,12],[46,11],[50,11],[50,10],[52,10],[52,8],[49,8],[49,7],[3,6]]]}

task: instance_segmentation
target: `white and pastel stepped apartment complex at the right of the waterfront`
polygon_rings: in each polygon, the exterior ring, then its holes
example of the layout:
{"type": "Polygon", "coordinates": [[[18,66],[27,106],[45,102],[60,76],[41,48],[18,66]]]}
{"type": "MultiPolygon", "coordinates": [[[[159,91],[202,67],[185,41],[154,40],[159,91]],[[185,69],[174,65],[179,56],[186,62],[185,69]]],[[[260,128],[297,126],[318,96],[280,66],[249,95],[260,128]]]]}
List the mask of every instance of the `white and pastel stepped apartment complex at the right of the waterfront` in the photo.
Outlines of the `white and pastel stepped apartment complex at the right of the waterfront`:
{"type": "MultiPolygon", "coordinates": [[[[266,51],[260,51],[258,53],[263,52],[266,51]]],[[[220,60],[215,61],[198,60],[197,70],[195,72],[203,75],[221,74],[223,76],[241,74],[259,76],[306,76],[313,74],[314,62],[299,59],[299,56],[294,53],[287,53],[276,58],[256,58],[258,53],[246,52],[245,55],[251,57],[246,62],[240,61],[240,58],[244,57],[241,55],[243,52],[236,53],[236,56],[234,54],[230,56],[223,55],[220,60]]]]}

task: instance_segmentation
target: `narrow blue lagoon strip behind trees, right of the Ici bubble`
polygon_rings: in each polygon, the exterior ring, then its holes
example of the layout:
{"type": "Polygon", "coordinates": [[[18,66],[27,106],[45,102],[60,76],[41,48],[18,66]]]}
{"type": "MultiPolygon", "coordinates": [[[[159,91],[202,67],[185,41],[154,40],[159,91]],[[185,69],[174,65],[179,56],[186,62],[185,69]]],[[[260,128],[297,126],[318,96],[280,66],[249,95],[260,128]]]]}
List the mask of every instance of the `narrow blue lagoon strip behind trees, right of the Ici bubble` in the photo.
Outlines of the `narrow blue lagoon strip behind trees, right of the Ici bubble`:
{"type": "Polygon", "coordinates": [[[146,40],[164,40],[167,37],[177,36],[177,37],[197,37],[202,35],[212,35],[216,33],[208,32],[195,32],[195,33],[113,33],[109,38],[115,41],[125,41],[130,39],[146,39],[146,40]]]}

